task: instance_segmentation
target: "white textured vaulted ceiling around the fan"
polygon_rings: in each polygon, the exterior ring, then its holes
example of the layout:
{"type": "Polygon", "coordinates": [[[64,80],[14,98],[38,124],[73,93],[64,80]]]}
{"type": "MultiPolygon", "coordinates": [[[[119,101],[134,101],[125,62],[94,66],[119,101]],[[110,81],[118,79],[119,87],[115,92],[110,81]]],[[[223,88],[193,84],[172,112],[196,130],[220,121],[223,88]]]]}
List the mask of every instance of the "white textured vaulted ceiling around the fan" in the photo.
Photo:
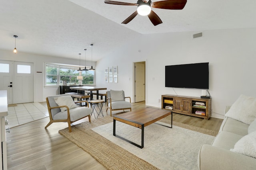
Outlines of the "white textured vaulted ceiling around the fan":
{"type": "MultiPolygon", "coordinates": [[[[0,49],[98,61],[140,34],[256,27],[255,0],[188,0],[183,10],[153,11],[162,24],[147,16],[121,24],[136,6],[104,0],[0,0],[0,49]]],[[[116,0],[117,1],[117,0],[116,0]]],[[[120,0],[136,3],[136,0],[120,0]]],[[[152,0],[152,2],[155,2],[152,0]]]]}

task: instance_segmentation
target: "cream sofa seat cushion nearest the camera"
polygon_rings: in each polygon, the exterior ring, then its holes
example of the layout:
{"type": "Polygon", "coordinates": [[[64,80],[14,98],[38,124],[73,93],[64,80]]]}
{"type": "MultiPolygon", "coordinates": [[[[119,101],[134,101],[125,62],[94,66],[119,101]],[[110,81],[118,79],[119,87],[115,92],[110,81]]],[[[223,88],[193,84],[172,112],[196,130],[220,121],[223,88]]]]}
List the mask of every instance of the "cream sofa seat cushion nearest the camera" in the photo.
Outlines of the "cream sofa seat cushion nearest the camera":
{"type": "Polygon", "coordinates": [[[236,142],[242,137],[242,135],[222,131],[215,137],[214,141],[212,142],[212,146],[230,150],[234,148],[236,142]]]}

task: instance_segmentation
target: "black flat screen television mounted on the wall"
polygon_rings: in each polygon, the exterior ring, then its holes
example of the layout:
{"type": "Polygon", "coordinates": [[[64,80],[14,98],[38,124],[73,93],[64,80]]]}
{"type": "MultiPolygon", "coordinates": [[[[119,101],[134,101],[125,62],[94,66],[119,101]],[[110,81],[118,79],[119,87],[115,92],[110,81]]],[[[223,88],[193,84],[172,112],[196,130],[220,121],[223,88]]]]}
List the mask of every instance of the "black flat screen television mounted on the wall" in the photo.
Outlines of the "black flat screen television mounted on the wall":
{"type": "Polygon", "coordinates": [[[209,63],[165,66],[165,86],[209,89],[209,63]]]}

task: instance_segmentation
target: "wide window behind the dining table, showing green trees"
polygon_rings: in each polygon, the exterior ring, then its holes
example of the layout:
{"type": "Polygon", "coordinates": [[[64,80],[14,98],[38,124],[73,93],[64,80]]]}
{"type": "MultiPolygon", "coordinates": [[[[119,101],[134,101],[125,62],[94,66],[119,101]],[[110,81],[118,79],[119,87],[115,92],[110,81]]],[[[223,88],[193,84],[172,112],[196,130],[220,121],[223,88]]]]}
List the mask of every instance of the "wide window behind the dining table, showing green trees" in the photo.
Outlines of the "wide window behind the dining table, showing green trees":
{"type": "MultiPolygon", "coordinates": [[[[79,66],[46,63],[46,86],[79,84],[79,66]]],[[[94,84],[95,71],[82,72],[82,84],[94,84]]]]}

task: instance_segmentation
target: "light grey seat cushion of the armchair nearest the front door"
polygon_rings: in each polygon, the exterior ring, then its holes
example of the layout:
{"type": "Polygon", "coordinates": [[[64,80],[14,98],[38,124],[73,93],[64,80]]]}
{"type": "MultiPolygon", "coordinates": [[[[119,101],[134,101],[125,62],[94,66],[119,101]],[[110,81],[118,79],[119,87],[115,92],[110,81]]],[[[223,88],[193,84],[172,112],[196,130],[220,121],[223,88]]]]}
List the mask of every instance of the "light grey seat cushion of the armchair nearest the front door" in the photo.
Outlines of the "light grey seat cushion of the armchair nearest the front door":
{"type": "MultiPolygon", "coordinates": [[[[68,119],[68,111],[59,112],[56,115],[54,115],[54,120],[62,120],[62,119],[68,119]]],[[[92,109],[89,107],[77,107],[74,109],[69,110],[70,114],[70,121],[76,121],[80,119],[81,117],[86,117],[87,115],[90,115],[92,113],[92,109]]]]}

